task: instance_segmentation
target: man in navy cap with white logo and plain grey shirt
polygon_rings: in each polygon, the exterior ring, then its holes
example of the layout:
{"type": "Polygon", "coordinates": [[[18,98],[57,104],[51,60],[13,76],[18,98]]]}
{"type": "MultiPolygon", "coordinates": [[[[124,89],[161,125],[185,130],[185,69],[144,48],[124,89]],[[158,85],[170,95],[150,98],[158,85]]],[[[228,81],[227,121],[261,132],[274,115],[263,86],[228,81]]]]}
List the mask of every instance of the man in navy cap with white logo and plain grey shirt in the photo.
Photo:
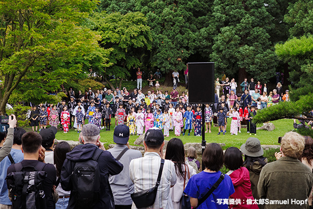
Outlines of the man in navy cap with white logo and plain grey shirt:
{"type": "Polygon", "coordinates": [[[113,141],[116,145],[108,151],[124,165],[123,171],[109,178],[114,196],[115,209],[131,208],[131,193],[134,193],[134,184],[129,178],[129,163],[132,159],[141,158],[138,150],[129,148],[129,128],[127,125],[118,125],[114,129],[113,141]]]}

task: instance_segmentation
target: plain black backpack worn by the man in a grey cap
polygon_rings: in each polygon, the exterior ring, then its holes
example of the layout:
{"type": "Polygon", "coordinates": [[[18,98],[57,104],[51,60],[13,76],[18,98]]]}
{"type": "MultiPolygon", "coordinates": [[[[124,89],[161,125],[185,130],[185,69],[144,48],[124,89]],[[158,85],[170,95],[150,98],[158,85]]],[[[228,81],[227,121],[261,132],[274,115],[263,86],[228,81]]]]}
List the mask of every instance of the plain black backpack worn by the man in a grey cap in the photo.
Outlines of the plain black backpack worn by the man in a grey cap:
{"type": "Polygon", "coordinates": [[[99,201],[101,175],[97,160],[102,151],[96,149],[91,159],[76,162],[74,165],[73,194],[79,208],[93,208],[99,201]]]}

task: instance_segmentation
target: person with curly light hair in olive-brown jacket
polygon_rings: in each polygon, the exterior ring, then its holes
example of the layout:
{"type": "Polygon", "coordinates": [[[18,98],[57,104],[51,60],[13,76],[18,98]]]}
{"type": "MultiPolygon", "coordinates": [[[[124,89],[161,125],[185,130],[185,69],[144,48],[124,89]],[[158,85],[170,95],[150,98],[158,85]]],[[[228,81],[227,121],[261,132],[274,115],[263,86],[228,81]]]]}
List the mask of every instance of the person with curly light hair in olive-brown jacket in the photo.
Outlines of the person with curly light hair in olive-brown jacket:
{"type": "Polygon", "coordinates": [[[275,153],[278,160],[263,167],[258,193],[260,199],[265,200],[265,209],[309,208],[313,175],[312,170],[299,160],[303,149],[304,137],[297,132],[287,132],[282,138],[280,153],[275,153]]]}

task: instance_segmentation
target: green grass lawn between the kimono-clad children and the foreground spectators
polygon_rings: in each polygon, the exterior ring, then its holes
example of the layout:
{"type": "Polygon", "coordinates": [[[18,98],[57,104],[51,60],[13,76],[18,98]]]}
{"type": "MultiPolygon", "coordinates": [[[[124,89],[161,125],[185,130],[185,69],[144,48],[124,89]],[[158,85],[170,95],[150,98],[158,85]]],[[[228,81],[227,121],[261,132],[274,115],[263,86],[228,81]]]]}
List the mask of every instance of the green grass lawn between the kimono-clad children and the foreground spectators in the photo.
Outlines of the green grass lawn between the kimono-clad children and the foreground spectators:
{"type": "MultiPolygon", "coordinates": [[[[226,135],[217,135],[218,127],[213,127],[211,133],[205,134],[205,139],[207,142],[217,142],[217,143],[225,143],[226,149],[230,146],[240,147],[247,140],[249,134],[247,134],[246,129],[242,129],[242,133],[238,133],[238,136],[230,135],[230,123],[231,119],[228,119],[227,124],[227,132],[226,135]]],[[[257,130],[257,138],[261,141],[262,145],[278,145],[278,137],[284,136],[284,134],[293,129],[293,121],[291,119],[282,119],[278,121],[272,121],[275,125],[275,130],[267,131],[267,130],[257,130]]],[[[114,119],[112,119],[111,131],[102,130],[100,133],[101,139],[100,141],[105,143],[107,147],[109,144],[113,144],[113,131],[114,131],[114,119]]],[[[260,127],[261,125],[258,125],[260,127]]],[[[29,127],[27,127],[29,130],[29,127]]],[[[187,131],[186,131],[187,132],[187,131]]],[[[183,141],[183,143],[188,142],[198,142],[201,143],[202,137],[193,136],[194,132],[192,130],[190,136],[180,136],[179,138],[183,141]]],[[[171,138],[176,137],[173,131],[170,131],[170,136],[166,137],[165,140],[170,140],[171,138]]],[[[57,140],[73,140],[78,141],[79,134],[74,129],[70,129],[68,133],[64,134],[63,130],[58,129],[56,137],[57,140]]],[[[138,136],[130,136],[129,143],[133,145],[134,141],[138,138],[138,136]]]]}

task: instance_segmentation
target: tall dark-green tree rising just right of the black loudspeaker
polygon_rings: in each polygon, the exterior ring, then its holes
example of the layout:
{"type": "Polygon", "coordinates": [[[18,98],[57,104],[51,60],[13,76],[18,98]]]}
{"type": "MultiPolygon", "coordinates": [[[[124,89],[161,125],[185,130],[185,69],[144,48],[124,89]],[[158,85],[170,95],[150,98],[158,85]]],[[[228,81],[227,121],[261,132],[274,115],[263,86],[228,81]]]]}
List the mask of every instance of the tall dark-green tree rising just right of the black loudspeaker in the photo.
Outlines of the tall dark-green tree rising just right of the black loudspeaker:
{"type": "Polygon", "coordinates": [[[268,12],[272,1],[222,1],[213,4],[211,31],[215,31],[211,61],[218,73],[238,75],[239,82],[250,75],[267,82],[275,75],[277,58],[269,31],[273,17],[268,12]]]}

